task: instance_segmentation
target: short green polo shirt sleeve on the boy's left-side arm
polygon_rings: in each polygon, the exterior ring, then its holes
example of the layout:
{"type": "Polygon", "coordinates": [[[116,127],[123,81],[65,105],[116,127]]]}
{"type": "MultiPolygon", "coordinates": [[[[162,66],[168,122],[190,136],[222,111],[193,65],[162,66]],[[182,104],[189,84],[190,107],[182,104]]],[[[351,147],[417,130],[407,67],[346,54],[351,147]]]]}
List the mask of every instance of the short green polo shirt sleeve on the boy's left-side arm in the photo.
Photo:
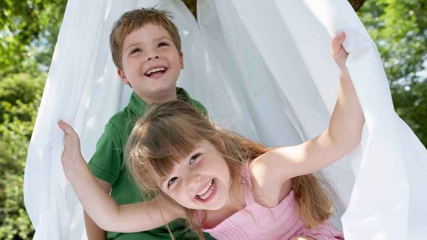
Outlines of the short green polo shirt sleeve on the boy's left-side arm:
{"type": "Polygon", "coordinates": [[[117,139],[112,136],[119,136],[118,129],[108,122],[104,133],[96,144],[96,150],[88,163],[92,174],[111,185],[120,175],[122,165],[123,149],[116,143],[117,139]],[[117,132],[117,133],[115,133],[117,132]]]}

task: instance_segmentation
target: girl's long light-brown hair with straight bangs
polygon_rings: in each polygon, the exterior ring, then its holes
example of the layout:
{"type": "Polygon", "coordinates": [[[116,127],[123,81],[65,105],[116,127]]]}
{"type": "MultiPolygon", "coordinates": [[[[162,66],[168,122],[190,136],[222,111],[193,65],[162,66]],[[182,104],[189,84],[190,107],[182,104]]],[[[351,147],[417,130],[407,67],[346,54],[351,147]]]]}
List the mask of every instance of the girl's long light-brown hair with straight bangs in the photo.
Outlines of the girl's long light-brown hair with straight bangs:
{"type": "MultiPolygon", "coordinates": [[[[189,227],[204,239],[201,231],[204,219],[200,223],[194,210],[180,206],[159,187],[160,178],[171,173],[175,163],[186,158],[202,140],[208,140],[224,157],[230,170],[230,196],[238,206],[236,192],[239,192],[242,182],[241,165],[272,148],[220,129],[184,101],[151,106],[144,117],[136,122],[126,145],[125,156],[138,188],[149,192],[150,197],[157,196],[159,201],[166,203],[164,206],[172,204],[182,209],[189,227]]],[[[307,227],[318,228],[332,215],[332,202],[327,192],[312,174],[294,177],[292,183],[302,220],[307,227]]]]}

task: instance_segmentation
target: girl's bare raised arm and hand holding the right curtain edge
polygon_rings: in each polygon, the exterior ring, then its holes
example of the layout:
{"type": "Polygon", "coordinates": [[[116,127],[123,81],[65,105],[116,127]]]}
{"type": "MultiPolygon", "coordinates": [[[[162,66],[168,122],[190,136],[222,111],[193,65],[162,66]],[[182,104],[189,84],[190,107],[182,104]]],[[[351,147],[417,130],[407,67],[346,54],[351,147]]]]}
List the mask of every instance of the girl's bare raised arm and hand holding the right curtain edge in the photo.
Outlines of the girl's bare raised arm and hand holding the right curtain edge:
{"type": "Polygon", "coordinates": [[[345,34],[341,32],[331,42],[331,54],[341,76],[340,92],[329,128],[306,143],[271,150],[255,161],[264,165],[260,169],[281,176],[282,181],[325,168],[360,142],[365,118],[347,70],[348,54],[342,46],[344,39],[345,34]]]}

